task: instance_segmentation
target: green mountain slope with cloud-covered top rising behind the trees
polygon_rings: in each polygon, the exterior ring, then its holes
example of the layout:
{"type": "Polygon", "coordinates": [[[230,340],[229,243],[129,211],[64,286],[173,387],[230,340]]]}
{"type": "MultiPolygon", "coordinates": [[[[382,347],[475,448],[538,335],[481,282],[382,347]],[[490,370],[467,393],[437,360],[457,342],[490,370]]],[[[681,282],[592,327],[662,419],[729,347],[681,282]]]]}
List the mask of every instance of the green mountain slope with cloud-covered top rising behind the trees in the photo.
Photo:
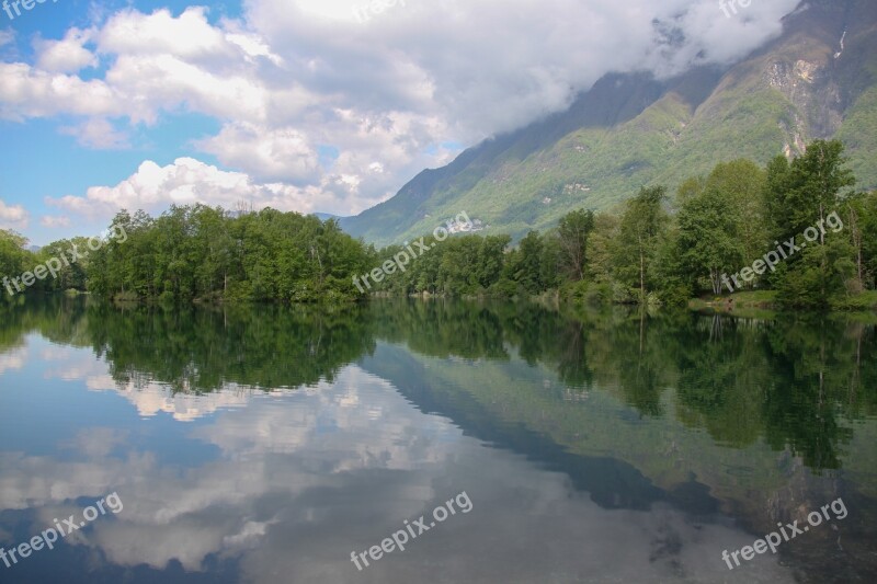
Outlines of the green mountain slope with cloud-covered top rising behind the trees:
{"type": "Polygon", "coordinates": [[[612,208],[641,186],[675,188],[721,161],[766,163],[817,138],[847,146],[859,188],[877,186],[877,2],[810,0],[742,61],[673,79],[611,73],[563,113],[424,170],[399,193],[341,219],[398,243],[466,211],[520,237],[576,208],[612,208]]]}

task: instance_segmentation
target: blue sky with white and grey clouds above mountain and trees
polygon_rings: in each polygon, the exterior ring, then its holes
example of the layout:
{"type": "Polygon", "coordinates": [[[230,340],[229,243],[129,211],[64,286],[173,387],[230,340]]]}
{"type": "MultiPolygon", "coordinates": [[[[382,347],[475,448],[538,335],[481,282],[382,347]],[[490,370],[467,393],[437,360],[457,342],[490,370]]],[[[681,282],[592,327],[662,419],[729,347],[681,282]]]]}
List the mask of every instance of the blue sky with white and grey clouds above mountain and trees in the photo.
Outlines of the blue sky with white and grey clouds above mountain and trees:
{"type": "Polygon", "coordinates": [[[24,1],[0,0],[0,229],[39,245],[121,208],[355,215],[607,72],[733,62],[799,2],[24,1]]]}

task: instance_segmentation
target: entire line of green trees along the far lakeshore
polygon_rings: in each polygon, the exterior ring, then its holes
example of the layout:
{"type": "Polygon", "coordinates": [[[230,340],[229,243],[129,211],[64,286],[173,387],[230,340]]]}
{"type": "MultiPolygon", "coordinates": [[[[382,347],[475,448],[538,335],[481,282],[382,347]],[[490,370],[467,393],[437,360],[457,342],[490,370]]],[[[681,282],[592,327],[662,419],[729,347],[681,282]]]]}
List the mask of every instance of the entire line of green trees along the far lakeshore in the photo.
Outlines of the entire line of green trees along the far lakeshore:
{"type": "MultiPolygon", "coordinates": [[[[123,210],[113,226],[125,230],[124,242],[106,241],[31,289],[283,302],[352,301],[369,293],[557,294],[647,305],[742,289],[775,290],[787,307],[823,308],[877,285],[877,193],[855,192],[854,184],[843,145],[817,140],[799,158],[778,156],[765,168],[749,160],[720,163],[672,197],[663,186],[643,187],[612,211],[574,210],[557,228],[531,231],[514,247],[509,236],[441,242],[429,236],[429,253],[365,291],[354,276],[391,260],[408,242],[376,250],[335,220],[271,208],[172,206],[158,218],[123,210]],[[827,220],[833,229],[824,229],[827,220]],[[806,232],[817,237],[802,245],[806,232]],[[785,252],[793,247],[795,253],[785,252]],[[781,261],[764,265],[762,259],[781,252],[781,261]]],[[[0,273],[21,274],[86,241],[62,240],[34,253],[21,236],[0,231],[0,273]]]]}

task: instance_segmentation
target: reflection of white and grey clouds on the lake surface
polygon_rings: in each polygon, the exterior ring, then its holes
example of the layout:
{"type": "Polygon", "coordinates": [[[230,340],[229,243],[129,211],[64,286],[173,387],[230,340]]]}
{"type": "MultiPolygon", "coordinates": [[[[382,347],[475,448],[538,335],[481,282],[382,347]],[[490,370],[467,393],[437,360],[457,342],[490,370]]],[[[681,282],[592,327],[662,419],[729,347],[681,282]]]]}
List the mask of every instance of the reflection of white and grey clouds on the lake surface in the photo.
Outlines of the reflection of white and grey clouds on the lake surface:
{"type": "MultiPolygon", "coordinates": [[[[111,564],[164,570],[175,560],[187,572],[210,572],[217,570],[212,559],[223,559],[241,580],[265,584],[791,581],[774,557],[727,571],[718,553],[748,545],[748,534],[670,507],[602,508],[566,474],[486,448],[357,366],[300,391],[229,387],[169,396],[153,383],[107,387],[105,365],[92,360],[61,363],[53,375],[77,391],[117,391],[141,415],[168,412],[196,421],[184,439],[213,445],[221,455],[162,463],[159,449],[167,444],[136,449],[135,434],[147,432],[144,421],[126,430],[73,422],[72,437],[54,456],[0,453],[0,508],[33,513],[31,533],[78,513],[78,497],[118,492],[123,513],[67,540],[111,564]],[[362,573],[349,561],[351,551],[379,542],[403,519],[462,490],[472,513],[362,573]]],[[[26,444],[29,436],[22,439],[26,444]]],[[[10,534],[0,518],[0,543],[11,545],[10,534]]],[[[88,579],[93,562],[62,569],[88,579]]]]}

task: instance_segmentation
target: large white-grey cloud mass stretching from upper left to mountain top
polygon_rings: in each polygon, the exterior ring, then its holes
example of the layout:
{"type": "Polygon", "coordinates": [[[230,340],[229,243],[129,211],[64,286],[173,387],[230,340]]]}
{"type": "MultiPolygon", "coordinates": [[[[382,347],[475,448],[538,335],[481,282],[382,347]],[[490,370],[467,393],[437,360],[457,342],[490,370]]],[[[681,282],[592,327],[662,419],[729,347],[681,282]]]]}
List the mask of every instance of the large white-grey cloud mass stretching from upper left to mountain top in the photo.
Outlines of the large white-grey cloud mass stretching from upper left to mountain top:
{"type": "MultiPolygon", "coordinates": [[[[731,18],[715,0],[412,0],[357,18],[364,3],[250,0],[242,19],[218,22],[203,7],[124,9],[38,41],[35,65],[0,64],[0,117],[82,116],[80,142],[112,148],[124,140],[107,118],[203,114],[220,130],[193,136],[196,147],[251,185],[277,183],[261,198],[356,213],[456,153],[440,145],[561,111],[607,72],[730,64],[777,35],[798,0],[731,18]],[[99,61],[101,75],[77,72],[99,61]],[[331,163],[324,148],[338,152],[331,163]]],[[[214,204],[228,195],[209,181],[190,191],[214,204]]],[[[116,194],[116,207],[130,198],[116,194]]]]}

